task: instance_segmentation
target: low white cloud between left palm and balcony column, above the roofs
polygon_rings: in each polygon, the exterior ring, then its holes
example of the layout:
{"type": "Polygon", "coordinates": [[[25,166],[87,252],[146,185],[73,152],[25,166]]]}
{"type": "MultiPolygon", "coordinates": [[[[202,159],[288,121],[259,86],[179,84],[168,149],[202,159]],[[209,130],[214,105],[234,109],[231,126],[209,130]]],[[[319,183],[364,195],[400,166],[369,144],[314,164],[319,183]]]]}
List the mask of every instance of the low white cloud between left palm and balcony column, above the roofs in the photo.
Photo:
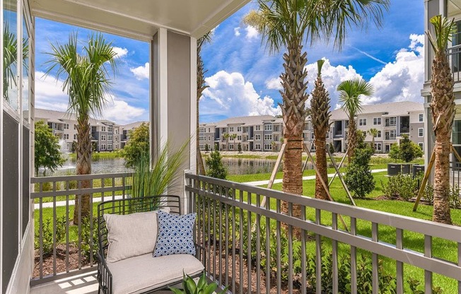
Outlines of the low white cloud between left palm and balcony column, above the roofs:
{"type": "Polygon", "coordinates": [[[117,122],[117,124],[128,124],[145,119],[144,114],[146,114],[146,110],[143,108],[129,105],[127,102],[119,100],[116,97],[112,97],[108,101],[107,107],[103,111],[105,119],[117,122]]]}

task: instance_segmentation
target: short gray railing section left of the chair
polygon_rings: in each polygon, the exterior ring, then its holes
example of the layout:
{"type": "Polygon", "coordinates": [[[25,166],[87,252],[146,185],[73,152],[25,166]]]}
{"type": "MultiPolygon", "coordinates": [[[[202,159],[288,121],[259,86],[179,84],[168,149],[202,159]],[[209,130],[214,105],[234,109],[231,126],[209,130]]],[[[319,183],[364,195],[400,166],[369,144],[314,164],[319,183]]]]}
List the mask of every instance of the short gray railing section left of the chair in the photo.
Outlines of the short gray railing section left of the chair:
{"type": "Polygon", "coordinates": [[[132,174],[69,175],[32,177],[30,194],[35,201],[35,264],[31,285],[46,283],[95,270],[97,245],[93,209],[86,221],[77,211],[78,225],[73,224],[74,201],[90,194],[90,207],[99,201],[126,197],[132,174]],[[89,188],[82,188],[84,181],[89,188]],[[77,195],[77,196],[76,196],[77,195]]]}

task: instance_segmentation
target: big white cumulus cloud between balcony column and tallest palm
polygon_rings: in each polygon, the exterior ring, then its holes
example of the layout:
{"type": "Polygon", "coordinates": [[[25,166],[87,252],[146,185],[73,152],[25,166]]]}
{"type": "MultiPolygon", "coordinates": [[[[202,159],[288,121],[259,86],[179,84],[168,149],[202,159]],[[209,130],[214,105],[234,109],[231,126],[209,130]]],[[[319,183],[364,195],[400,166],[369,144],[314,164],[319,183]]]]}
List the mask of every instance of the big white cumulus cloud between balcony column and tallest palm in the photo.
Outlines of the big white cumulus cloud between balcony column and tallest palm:
{"type": "Polygon", "coordinates": [[[219,71],[205,78],[206,88],[200,101],[200,114],[225,117],[281,114],[269,96],[261,97],[242,73],[219,71]]]}

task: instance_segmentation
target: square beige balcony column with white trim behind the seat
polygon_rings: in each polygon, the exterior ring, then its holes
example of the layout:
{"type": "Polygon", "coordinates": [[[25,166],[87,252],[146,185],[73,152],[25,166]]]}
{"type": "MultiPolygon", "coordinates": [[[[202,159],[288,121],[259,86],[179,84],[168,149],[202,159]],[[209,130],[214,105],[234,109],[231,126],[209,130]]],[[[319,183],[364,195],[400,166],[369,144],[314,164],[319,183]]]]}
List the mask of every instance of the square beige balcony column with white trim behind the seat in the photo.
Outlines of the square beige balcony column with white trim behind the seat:
{"type": "MultiPolygon", "coordinates": [[[[189,141],[181,175],[196,166],[196,89],[197,40],[160,28],[151,42],[151,158],[155,161],[166,141],[176,149],[189,141]]],[[[184,187],[180,176],[168,194],[183,196],[187,207],[184,187]]]]}

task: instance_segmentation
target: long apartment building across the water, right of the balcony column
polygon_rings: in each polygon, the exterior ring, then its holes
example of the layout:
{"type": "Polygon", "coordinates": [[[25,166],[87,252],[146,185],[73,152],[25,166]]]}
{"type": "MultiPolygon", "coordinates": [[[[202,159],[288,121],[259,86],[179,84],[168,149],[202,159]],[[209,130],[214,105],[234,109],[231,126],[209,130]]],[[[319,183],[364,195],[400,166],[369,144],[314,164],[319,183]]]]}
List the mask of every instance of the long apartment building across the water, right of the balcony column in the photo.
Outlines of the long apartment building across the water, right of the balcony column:
{"type": "MultiPolygon", "coordinates": [[[[403,134],[424,149],[424,106],[416,102],[391,102],[377,105],[364,105],[357,115],[357,129],[366,134],[366,142],[372,137],[368,130],[378,130],[375,138],[375,150],[388,153],[392,143],[397,143],[403,134]]],[[[461,122],[460,122],[461,123],[461,122]]],[[[330,128],[327,131],[327,143],[332,143],[335,152],[344,152],[347,148],[349,119],[342,109],[333,110],[330,128]]],[[[461,127],[461,124],[460,124],[461,127]]],[[[315,151],[313,124],[307,117],[303,129],[303,141],[315,151]]],[[[460,139],[461,141],[461,139],[460,139]]],[[[283,143],[283,119],[270,115],[253,117],[232,117],[221,122],[200,124],[200,150],[237,151],[280,151],[283,143]]]]}

